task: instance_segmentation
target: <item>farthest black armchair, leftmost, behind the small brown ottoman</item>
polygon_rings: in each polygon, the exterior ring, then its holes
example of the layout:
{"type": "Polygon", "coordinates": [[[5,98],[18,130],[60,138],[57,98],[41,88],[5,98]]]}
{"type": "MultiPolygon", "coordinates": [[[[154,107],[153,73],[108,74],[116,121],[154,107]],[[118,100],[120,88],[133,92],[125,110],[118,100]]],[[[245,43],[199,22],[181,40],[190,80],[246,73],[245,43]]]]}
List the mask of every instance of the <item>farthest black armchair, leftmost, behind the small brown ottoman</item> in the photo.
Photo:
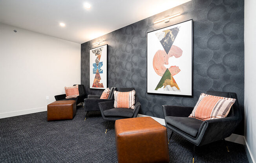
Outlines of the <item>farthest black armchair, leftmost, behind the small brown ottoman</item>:
{"type": "MultiPolygon", "coordinates": [[[[73,86],[78,85],[78,84],[74,84],[73,86]]],[[[84,101],[84,99],[86,98],[86,94],[85,94],[85,89],[84,89],[84,85],[78,85],[78,91],[79,91],[79,96],[77,96],[76,98],[66,98],[66,94],[60,94],[60,95],[56,95],[55,100],[56,101],[60,101],[60,100],[75,100],[76,101],[76,105],[79,103],[82,103],[84,101]]]]}

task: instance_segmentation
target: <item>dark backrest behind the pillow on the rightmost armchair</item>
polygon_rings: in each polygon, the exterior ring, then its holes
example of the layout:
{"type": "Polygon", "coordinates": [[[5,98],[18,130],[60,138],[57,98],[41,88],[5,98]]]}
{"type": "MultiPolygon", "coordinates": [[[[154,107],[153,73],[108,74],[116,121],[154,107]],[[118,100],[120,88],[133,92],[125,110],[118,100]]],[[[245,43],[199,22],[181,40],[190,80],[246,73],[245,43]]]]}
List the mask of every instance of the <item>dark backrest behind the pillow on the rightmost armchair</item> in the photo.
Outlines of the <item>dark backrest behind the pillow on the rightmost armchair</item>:
{"type": "Polygon", "coordinates": [[[227,98],[235,98],[236,101],[232,105],[232,107],[230,108],[230,111],[229,111],[229,114],[227,115],[227,117],[235,116],[239,120],[242,119],[242,114],[241,114],[241,110],[240,110],[240,107],[239,107],[239,103],[238,103],[236,93],[234,93],[234,92],[207,91],[206,94],[210,94],[210,95],[213,95],[213,96],[227,97],[227,98]]]}

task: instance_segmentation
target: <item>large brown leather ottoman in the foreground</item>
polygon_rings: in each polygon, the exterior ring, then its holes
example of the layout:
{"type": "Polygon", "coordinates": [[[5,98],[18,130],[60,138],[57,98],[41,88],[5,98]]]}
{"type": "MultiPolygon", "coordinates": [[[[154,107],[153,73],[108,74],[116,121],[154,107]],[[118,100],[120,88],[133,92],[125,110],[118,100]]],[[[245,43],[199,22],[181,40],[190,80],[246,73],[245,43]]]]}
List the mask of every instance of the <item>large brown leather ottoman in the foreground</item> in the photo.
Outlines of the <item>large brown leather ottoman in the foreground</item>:
{"type": "Polygon", "coordinates": [[[167,130],[151,117],[115,121],[119,163],[168,163],[167,130]]]}

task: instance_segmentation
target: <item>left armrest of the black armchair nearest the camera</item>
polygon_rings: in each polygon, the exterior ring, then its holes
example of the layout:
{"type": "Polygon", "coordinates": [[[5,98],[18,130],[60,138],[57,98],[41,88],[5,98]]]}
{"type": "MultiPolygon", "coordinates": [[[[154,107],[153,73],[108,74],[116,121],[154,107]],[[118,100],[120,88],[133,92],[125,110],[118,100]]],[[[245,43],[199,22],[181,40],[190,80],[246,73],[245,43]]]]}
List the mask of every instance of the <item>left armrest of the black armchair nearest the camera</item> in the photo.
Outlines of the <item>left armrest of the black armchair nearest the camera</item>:
{"type": "Polygon", "coordinates": [[[164,116],[188,117],[194,107],[163,105],[164,116]]]}

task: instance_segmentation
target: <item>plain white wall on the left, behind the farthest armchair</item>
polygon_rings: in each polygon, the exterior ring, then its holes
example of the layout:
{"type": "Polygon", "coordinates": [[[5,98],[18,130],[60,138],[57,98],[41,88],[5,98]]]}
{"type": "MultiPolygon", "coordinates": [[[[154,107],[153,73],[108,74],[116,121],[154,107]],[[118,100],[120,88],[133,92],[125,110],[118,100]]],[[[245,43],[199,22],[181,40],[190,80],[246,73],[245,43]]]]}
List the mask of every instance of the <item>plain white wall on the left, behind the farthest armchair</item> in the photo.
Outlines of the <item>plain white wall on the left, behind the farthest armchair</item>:
{"type": "Polygon", "coordinates": [[[44,111],[80,84],[80,52],[79,43],[0,24],[0,118],[44,111]]]}

